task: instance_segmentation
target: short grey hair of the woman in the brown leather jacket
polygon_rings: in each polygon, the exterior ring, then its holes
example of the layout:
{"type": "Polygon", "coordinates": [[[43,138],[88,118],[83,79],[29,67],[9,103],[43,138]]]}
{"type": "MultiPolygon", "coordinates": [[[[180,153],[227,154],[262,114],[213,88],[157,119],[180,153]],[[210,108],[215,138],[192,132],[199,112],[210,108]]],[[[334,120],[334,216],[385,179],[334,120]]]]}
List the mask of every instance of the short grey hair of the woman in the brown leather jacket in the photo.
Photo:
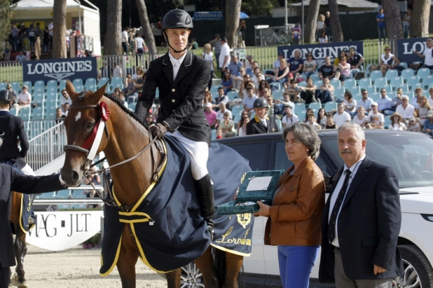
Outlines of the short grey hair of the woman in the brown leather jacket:
{"type": "MultiPolygon", "coordinates": [[[[313,115],[314,116],[314,115],[313,115]]],[[[289,124],[284,131],[282,131],[282,138],[286,140],[287,133],[293,132],[294,136],[297,140],[299,140],[303,145],[306,145],[308,148],[308,155],[315,161],[318,159],[320,153],[320,137],[318,133],[315,131],[313,125],[295,122],[289,124]]]]}

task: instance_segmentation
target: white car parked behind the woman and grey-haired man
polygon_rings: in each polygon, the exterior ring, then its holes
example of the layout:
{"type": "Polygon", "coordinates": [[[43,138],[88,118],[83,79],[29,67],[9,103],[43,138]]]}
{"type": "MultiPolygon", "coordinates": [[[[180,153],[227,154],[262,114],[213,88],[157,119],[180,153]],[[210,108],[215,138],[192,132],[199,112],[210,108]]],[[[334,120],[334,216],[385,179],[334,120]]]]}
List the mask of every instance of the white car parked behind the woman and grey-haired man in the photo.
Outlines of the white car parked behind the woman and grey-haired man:
{"type": "MultiPolygon", "coordinates": [[[[322,145],[316,163],[325,178],[332,176],[343,161],[339,157],[337,131],[319,132],[322,145]]],[[[433,287],[433,140],[422,133],[366,130],[367,155],[391,166],[399,178],[402,223],[399,249],[405,267],[407,287],[433,287]]],[[[249,159],[251,169],[285,170],[291,166],[284,151],[282,133],[226,138],[218,142],[249,159]]],[[[266,219],[257,217],[253,228],[253,249],[244,258],[245,287],[282,287],[277,247],[263,244],[266,219]]],[[[310,286],[317,284],[316,261],[310,286]]]]}

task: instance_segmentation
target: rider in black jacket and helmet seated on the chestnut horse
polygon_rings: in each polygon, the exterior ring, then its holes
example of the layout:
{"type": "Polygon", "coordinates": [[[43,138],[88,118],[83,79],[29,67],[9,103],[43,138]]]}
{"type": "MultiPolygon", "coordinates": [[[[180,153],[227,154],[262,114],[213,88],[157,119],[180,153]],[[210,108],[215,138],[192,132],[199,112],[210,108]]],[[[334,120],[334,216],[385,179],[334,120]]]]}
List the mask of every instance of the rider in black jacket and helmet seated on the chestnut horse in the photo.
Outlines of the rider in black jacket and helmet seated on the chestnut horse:
{"type": "Polygon", "coordinates": [[[186,11],[169,11],[163,18],[162,26],[170,49],[161,58],[151,61],[135,112],[142,119],[146,119],[158,88],[161,107],[157,124],[150,128],[152,136],[161,138],[170,131],[171,135],[187,148],[201,216],[208,223],[212,234],[211,218],[215,207],[211,178],[206,166],[208,146],[211,145],[211,128],[201,106],[201,99],[211,77],[211,65],[187,50],[193,24],[186,11]]]}

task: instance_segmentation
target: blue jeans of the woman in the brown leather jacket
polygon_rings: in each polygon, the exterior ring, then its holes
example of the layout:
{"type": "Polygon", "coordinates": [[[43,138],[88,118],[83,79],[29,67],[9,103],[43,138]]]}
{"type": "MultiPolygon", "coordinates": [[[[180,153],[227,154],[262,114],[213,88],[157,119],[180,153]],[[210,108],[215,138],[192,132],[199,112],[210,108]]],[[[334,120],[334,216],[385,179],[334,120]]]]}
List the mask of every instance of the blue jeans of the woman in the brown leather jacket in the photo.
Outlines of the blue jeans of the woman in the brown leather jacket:
{"type": "Polygon", "coordinates": [[[308,288],[318,251],[319,245],[278,246],[278,263],[284,288],[308,288]]]}

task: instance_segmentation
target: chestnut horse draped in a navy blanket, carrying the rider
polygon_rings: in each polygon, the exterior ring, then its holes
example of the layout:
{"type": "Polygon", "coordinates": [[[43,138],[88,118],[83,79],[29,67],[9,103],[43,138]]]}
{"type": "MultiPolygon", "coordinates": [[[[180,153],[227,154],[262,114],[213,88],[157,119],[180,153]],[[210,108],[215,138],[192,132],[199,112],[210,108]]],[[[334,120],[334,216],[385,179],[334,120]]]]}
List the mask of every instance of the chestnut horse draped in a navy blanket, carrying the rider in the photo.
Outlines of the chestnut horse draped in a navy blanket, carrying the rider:
{"type": "MultiPolygon", "coordinates": [[[[89,155],[96,147],[97,152],[104,152],[108,165],[111,166],[116,201],[121,203],[121,207],[133,207],[153,183],[153,179],[158,177],[158,167],[163,161],[156,142],[151,140],[149,129],[118,100],[112,96],[104,96],[106,85],[96,92],[76,93],[73,85],[67,81],[66,91],[71,97],[72,105],[64,121],[68,145],[65,146],[65,164],[61,172],[63,181],[68,186],[80,185],[87,172],[84,170],[89,164],[89,155]],[[106,105],[106,107],[102,111],[99,105],[106,105]],[[92,136],[97,129],[96,126],[99,127],[99,123],[102,123],[101,118],[106,120],[105,128],[101,129],[103,130],[101,136],[94,138],[92,147],[86,146],[89,138],[93,138],[89,136],[92,136]],[[127,159],[130,161],[125,161],[127,159]]],[[[140,251],[134,237],[131,237],[131,230],[133,228],[130,224],[123,226],[116,263],[123,288],[136,287],[135,265],[140,251]]],[[[237,287],[237,275],[243,256],[222,253],[226,254],[227,264],[223,282],[217,280],[217,268],[213,265],[211,247],[208,247],[203,255],[194,261],[203,274],[205,287],[237,287]]],[[[180,268],[165,275],[168,287],[180,287],[180,268]]]]}

